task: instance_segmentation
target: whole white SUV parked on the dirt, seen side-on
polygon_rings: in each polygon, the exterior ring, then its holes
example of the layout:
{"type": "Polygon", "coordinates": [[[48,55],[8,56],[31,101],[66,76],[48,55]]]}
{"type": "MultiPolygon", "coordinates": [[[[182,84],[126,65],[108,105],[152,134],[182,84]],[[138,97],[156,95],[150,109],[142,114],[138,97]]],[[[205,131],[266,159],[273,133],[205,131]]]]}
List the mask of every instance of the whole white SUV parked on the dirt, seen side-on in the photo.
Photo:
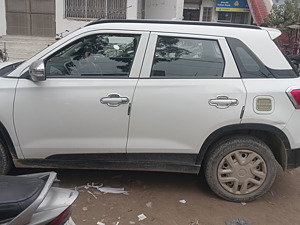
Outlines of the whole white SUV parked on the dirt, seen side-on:
{"type": "Polygon", "coordinates": [[[0,70],[0,173],[16,167],[204,170],[230,201],[300,165],[300,79],[280,32],[93,22],[0,70]],[[12,66],[11,66],[12,67],[12,66]]]}

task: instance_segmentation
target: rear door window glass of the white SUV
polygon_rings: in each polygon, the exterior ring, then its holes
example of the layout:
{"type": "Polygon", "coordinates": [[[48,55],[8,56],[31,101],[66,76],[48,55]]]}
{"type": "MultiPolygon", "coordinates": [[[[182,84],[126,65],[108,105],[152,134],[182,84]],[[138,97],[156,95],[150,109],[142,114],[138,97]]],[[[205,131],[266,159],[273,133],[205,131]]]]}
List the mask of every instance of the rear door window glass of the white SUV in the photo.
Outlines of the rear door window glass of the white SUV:
{"type": "Polygon", "coordinates": [[[158,37],[151,77],[222,77],[224,59],[215,40],[158,37]]]}

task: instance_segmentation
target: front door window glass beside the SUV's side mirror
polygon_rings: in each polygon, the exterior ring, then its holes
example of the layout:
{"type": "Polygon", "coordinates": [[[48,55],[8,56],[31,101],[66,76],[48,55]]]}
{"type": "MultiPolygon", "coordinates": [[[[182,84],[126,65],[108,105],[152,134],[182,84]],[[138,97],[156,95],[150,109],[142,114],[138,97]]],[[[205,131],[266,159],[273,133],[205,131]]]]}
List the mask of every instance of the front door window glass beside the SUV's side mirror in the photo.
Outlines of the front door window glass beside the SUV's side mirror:
{"type": "Polygon", "coordinates": [[[47,77],[128,77],[139,35],[84,37],[46,60],[47,77]]]}

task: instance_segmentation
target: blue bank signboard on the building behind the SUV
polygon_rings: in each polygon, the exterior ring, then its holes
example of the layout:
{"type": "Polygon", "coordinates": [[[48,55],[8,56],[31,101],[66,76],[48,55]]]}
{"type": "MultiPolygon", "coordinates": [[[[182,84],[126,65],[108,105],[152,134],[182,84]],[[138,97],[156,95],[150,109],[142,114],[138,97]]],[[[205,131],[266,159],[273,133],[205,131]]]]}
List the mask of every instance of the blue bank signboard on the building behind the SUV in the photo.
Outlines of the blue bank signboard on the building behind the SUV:
{"type": "Polygon", "coordinates": [[[217,0],[216,11],[250,12],[247,0],[217,0]]]}

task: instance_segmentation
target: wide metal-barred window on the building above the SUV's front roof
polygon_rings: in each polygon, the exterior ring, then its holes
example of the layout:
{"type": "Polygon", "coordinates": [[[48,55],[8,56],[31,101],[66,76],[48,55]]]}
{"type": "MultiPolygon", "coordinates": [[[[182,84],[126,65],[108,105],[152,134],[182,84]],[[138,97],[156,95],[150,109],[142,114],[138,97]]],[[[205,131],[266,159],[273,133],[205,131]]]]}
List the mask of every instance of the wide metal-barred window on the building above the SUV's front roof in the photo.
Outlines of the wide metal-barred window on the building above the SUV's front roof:
{"type": "Polygon", "coordinates": [[[65,17],[126,19],[127,0],[65,0],[65,17]]]}

